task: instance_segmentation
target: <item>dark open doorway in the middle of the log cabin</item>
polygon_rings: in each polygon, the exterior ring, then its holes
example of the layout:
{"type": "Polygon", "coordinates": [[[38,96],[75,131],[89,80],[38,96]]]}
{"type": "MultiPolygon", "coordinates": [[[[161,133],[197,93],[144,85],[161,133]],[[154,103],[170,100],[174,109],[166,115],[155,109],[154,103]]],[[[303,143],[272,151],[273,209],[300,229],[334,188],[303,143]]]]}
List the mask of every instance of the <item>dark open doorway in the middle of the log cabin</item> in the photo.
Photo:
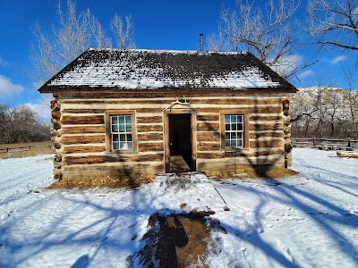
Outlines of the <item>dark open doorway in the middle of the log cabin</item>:
{"type": "Polygon", "coordinates": [[[192,159],[192,113],[168,114],[169,171],[195,171],[192,159]]]}

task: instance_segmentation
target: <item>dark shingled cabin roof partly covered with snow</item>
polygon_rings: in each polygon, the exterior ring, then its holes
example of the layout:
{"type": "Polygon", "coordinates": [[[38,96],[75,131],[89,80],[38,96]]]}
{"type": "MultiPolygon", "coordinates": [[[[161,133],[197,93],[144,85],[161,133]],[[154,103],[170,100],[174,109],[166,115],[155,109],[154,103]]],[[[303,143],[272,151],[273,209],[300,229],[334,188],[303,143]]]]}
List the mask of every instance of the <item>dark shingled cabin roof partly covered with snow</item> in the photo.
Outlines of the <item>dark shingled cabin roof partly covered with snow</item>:
{"type": "Polygon", "coordinates": [[[89,49],[48,80],[41,93],[204,89],[295,92],[252,54],[89,49]]]}

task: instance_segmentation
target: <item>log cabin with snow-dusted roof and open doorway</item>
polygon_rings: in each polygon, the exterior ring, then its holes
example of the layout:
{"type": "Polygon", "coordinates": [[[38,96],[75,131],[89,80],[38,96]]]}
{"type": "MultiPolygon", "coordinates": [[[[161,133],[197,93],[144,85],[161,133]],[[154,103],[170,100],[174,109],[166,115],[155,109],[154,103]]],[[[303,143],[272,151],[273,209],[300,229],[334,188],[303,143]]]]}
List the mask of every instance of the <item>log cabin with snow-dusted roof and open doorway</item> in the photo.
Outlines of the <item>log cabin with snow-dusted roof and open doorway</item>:
{"type": "Polygon", "coordinates": [[[250,53],[89,49],[38,91],[54,96],[55,180],[291,164],[296,88],[250,53]]]}

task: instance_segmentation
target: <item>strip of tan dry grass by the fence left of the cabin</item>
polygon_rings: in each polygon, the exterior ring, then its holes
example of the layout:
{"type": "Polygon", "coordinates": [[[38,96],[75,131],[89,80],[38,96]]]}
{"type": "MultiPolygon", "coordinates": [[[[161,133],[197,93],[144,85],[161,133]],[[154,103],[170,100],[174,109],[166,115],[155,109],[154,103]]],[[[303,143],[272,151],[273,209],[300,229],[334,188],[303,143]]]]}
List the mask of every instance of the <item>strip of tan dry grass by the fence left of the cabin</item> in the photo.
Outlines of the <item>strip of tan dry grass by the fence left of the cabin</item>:
{"type": "Polygon", "coordinates": [[[8,153],[5,150],[0,150],[0,159],[29,157],[33,155],[47,155],[54,154],[55,149],[51,141],[44,142],[30,142],[30,143],[15,143],[15,144],[0,144],[0,149],[9,149],[8,153]]]}

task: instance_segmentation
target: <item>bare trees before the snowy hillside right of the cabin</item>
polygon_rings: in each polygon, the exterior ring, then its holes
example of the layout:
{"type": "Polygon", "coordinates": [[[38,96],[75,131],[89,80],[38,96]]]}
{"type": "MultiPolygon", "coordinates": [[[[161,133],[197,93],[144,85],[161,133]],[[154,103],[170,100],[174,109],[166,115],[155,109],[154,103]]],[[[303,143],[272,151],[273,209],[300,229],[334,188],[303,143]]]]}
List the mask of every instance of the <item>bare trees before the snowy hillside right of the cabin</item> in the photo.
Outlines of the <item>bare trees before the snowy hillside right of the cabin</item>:
{"type": "Polygon", "coordinates": [[[358,138],[358,91],[300,88],[291,99],[293,138],[358,138]]]}

